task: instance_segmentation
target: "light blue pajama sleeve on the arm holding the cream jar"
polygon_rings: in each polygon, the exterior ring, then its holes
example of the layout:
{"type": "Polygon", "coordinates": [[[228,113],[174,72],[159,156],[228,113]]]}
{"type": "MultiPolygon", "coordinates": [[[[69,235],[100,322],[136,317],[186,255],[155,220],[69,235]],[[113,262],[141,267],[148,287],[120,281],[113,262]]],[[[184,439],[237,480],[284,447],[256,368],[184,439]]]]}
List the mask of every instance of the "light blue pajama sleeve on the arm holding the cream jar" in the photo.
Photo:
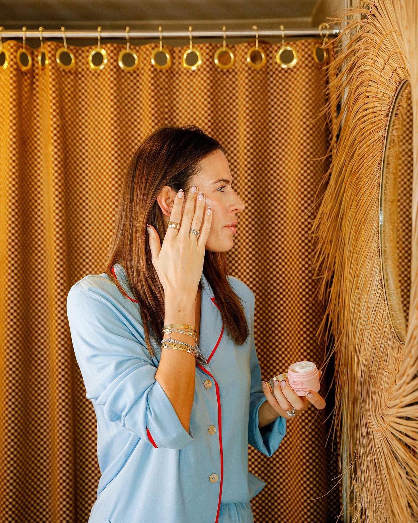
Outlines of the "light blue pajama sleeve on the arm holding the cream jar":
{"type": "Polygon", "coordinates": [[[252,294],[252,306],[250,307],[250,328],[251,328],[251,388],[250,388],[250,416],[248,421],[248,442],[255,449],[265,456],[272,456],[278,449],[282,439],[286,434],[286,418],[278,416],[272,423],[259,428],[258,412],[260,406],[268,401],[263,392],[261,384],[261,369],[257,357],[256,344],[254,340],[254,293],[252,294]]]}

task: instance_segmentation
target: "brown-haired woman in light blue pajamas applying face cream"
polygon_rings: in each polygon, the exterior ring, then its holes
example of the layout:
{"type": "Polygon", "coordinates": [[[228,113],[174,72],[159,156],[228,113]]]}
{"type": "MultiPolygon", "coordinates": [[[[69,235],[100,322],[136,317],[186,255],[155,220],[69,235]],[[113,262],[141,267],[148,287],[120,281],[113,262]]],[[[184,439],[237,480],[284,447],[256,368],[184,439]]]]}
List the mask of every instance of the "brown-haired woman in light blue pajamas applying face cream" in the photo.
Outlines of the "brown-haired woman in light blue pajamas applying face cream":
{"type": "Polygon", "coordinates": [[[90,523],[253,521],[265,483],[248,472],[248,444],[272,456],[286,411],[309,404],[288,384],[263,392],[254,294],[228,275],[230,224],[245,208],[231,185],[225,150],[201,129],[150,134],[124,179],[105,270],[68,293],[97,417],[90,523]]]}

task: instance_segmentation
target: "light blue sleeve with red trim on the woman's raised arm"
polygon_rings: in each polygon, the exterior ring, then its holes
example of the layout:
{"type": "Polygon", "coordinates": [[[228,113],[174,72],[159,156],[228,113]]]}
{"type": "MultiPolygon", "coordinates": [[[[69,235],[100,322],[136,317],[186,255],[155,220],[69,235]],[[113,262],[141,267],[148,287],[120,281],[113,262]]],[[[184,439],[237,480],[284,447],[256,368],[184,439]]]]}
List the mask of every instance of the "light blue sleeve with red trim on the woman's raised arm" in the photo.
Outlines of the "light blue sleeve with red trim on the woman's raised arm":
{"type": "Polygon", "coordinates": [[[193,441],[192,429],[184,429],[155,379],[145,342],[116,303],[76,283],[67,295],[67,317],[86,397],[102,406],[110,422],[154,447],[181,449],[193,441]]]}

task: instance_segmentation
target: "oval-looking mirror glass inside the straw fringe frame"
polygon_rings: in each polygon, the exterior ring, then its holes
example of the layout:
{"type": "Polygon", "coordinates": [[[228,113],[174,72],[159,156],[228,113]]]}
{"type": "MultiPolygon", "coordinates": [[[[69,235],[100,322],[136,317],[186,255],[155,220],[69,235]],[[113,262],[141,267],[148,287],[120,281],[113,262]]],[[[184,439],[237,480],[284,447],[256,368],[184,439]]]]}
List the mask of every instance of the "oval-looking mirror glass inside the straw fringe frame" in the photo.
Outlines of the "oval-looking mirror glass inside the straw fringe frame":
{"type": "Polygon", "coordinates": [[[405,343],[411,291],[412,103],[408,80],[394,96],[380,176],[381,275],[392,330],[405,343]]]}

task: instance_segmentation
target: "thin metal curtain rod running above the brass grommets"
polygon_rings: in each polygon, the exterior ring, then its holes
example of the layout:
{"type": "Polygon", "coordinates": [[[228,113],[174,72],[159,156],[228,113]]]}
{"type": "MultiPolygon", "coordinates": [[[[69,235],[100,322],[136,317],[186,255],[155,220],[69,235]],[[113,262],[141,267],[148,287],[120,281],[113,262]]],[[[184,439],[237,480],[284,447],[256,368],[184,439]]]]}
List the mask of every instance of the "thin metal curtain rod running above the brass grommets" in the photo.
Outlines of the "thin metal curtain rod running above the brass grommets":
{"type": "MultiPolygon", "coordinates": [[[[335,35],[338,35],[341,30],[340,29],[329,29],[328,30],[328,37],[332,37],[335,35]]],[[[258,37],[281,37],[283,35],[283,32],[285,36],[295,36],[295,37],[301,37],[301,36],[321,36],[319,29],[285,29],[284,31],[281,31],[280,29],[268,29],[263,30],[260,29],[257,31],[258,37]]],[[[327,35],[327,29],[322,29],[322,37],[327,35]]],[[[24,33],[26,33],[26,38],[39,38],[39,30],[2,30],[0,32],[0,36],[2,38],[23,38],[24,33]]],[[[192,37],[194,38],[223,38],[224,31],[191,31],[192,37]]],[[[161,37],[162,38],[189,38],[189,31],[161,31],[161,37]]],[[[242,37],[256,37],[256,32],[254,29],[248,29],[248,30],[229,30],[225,31],[226,37],[230,38],[242,38],[242,37]]],[[[91,38],[91,39],[97,39],[98,32],[97,30],[91,30],[91,31],[83,31],[83,30],[74,30],[69,29],[65,30],[65,38],[91,38]]],[[[160,33],[159,31],[129,31],[129,37],[130,38],[159,38],[160,33]]],[[[43,29],[42,31],[42,38],[63,38],[63,31],[58,30],[51,30],[51,29],[43,29]]],[[[106,30],[102,29],[100,32],[100,38],[126,38],[126,31],[124,30],[106,30]]]]}

